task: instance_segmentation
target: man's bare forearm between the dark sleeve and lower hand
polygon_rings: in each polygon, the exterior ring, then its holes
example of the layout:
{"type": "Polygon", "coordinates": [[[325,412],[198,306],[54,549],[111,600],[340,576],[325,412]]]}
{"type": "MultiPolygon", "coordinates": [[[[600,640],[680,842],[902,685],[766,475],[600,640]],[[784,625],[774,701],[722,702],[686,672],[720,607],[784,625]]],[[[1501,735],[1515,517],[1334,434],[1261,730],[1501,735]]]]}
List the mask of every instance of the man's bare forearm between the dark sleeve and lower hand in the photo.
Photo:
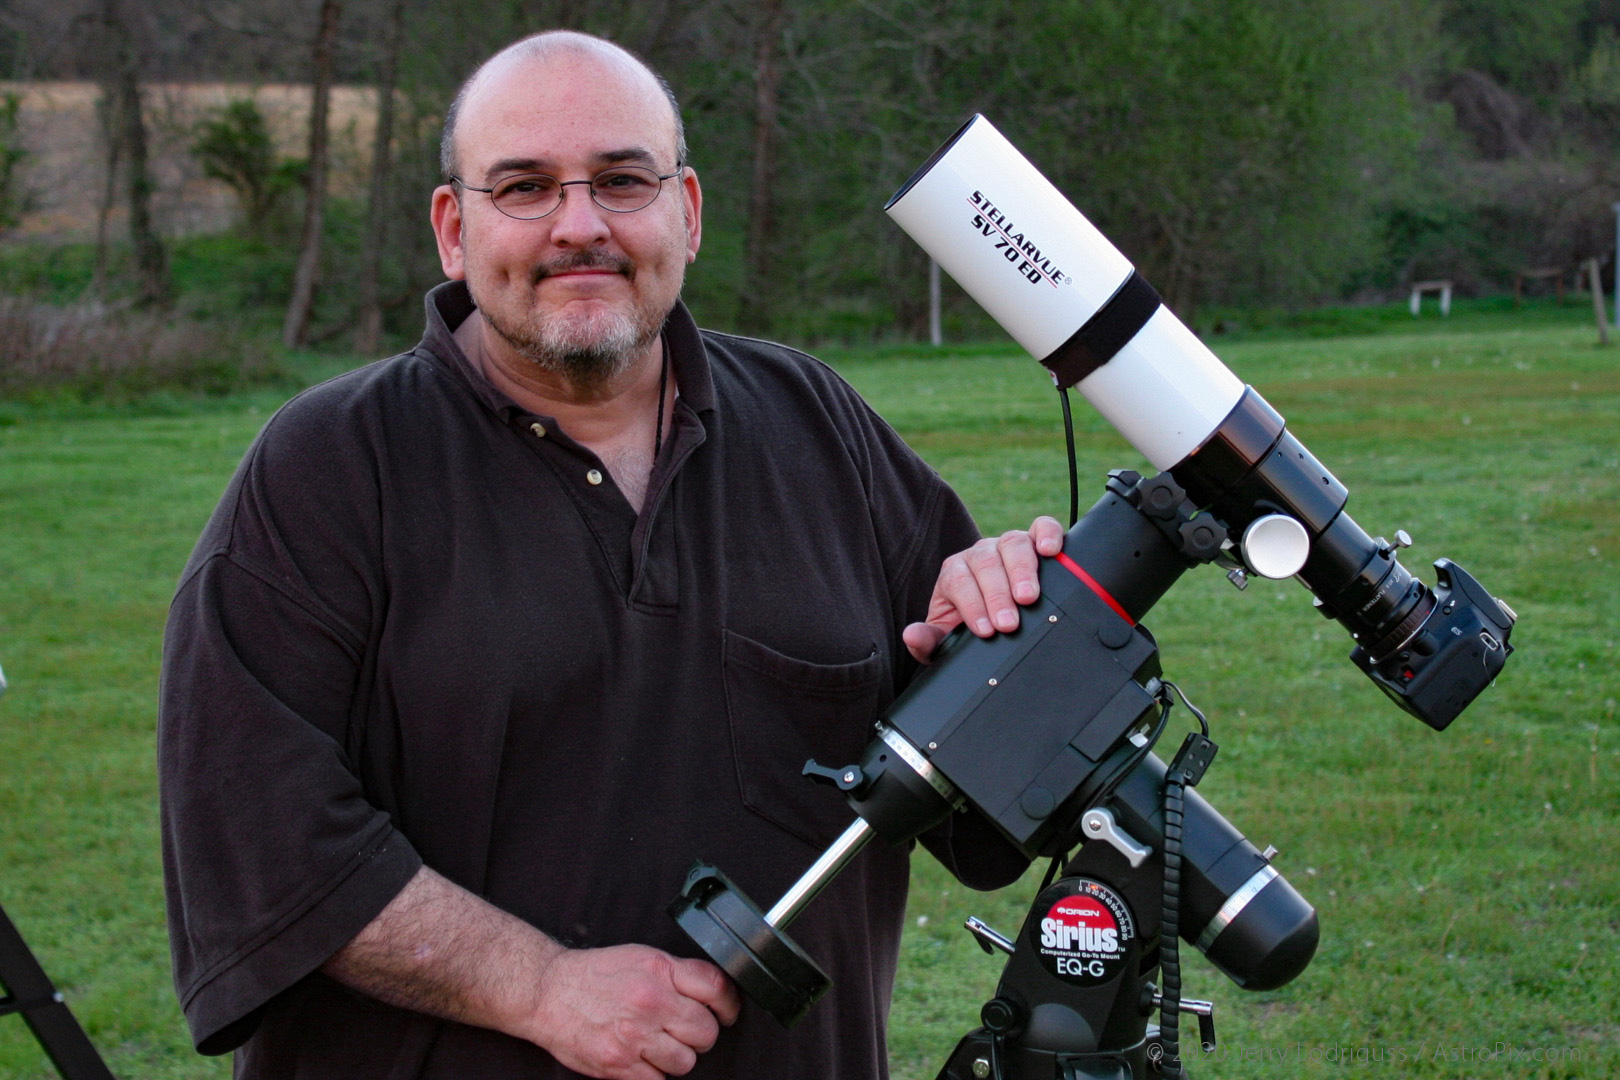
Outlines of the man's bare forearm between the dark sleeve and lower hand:
{"type": "Polygon", "coordinates": [[[564,947],[428,866],[322,972],[379,1001],[535,1040],[544,970],[564,947]]]}

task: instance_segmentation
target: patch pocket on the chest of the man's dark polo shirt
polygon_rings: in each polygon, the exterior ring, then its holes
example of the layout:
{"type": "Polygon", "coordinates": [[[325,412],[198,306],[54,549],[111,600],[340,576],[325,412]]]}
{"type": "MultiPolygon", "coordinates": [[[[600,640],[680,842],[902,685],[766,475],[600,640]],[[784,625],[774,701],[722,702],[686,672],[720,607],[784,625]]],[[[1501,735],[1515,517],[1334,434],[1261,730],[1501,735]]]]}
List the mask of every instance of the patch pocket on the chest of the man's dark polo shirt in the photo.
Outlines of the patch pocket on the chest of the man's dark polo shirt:
{"type": "Polygon", "coordinates": [[[876,646],[850,664],[813,664],[731,630],[721,635],[742,805],[821,850],[855,814],[842,793],[802,774],[805,761],[836,767],[860,759],[888,664],[876,646]]]}

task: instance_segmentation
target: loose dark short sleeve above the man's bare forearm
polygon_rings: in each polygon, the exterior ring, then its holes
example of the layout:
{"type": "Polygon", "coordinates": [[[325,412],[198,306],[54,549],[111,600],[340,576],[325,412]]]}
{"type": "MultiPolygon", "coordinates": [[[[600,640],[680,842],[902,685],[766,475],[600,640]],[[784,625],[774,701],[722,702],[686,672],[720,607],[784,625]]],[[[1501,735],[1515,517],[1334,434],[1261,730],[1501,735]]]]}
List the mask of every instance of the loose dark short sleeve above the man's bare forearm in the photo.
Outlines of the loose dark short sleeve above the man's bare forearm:
{"type": "Polygon", "coordinates": [[[271,999],[353,939],[421,866],[352,761],[366,581],[353,554],[324,538],[355,531],[334,499],[347,497],[348,513],[364,504],[342,483],[300,483],[287,453],[262,444],[198,544],[164,636],[170,949],[202,1052],[240,1046],[271,999]],[[271,504],[274,517],[259,512],[271,504]]]}

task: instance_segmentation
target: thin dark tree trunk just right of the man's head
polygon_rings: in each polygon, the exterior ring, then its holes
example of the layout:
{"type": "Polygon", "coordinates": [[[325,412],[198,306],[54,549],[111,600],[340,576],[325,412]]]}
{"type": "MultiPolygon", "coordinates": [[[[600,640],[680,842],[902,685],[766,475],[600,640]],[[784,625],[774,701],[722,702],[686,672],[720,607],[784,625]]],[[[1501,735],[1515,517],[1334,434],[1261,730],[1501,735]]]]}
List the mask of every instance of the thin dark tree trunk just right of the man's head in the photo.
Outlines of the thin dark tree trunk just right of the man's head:
{"type": "Polygon", "coordinates": [[[744,334],[771,329],[771,285],[776,266],[776,136],[781,105],[782,0],[761,0],[753,36],[753,176],[748,188],[748,233],[744,240],[742,295],[737,327],[744,334]]]}

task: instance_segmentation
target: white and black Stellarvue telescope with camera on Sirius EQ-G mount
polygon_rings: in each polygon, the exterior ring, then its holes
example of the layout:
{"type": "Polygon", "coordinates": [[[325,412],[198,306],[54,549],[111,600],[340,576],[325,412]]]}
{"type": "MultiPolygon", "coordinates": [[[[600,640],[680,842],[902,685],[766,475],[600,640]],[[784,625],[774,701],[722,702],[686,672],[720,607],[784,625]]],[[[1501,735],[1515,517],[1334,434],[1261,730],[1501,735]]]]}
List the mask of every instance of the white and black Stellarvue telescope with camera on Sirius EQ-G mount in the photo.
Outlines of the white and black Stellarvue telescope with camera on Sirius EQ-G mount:
{"type": "Polygon", "coordinates": [[[1168,764],[1153,753],[1179,690],[1142,617],[1202,563],[1239,586],[1293,576],[1349,631],[1349,659],[1443,730],[1502,670],[1516,615],[1448,559],[1424,585],[1396,557],[1403,533],[1369,536],[1277,410],[983,117],[886,210],[1160,471],[1110,473],[1063,552],[1042,560],[1019,630],[957,628],[860,761],[807,763],[857,819],[768,912],[698,865],[671,915],[792,1023],[828,986],[786,934],[794,916],[873,837],[906,844],[951,813],[978,814],[1053,866],[1016,938],[969,920],[1009,960],[940,1078],[1184,1075],[1179,1012],[1199,1017],[1205,1048],[1215,1033],[1213,1007],[1179,996],[1178,941],[1239,986],[1270,989],[1309,965],[1319,926],[1273,852],[1192,790],[1215,756],[1202,714],[1168,764]]]}

